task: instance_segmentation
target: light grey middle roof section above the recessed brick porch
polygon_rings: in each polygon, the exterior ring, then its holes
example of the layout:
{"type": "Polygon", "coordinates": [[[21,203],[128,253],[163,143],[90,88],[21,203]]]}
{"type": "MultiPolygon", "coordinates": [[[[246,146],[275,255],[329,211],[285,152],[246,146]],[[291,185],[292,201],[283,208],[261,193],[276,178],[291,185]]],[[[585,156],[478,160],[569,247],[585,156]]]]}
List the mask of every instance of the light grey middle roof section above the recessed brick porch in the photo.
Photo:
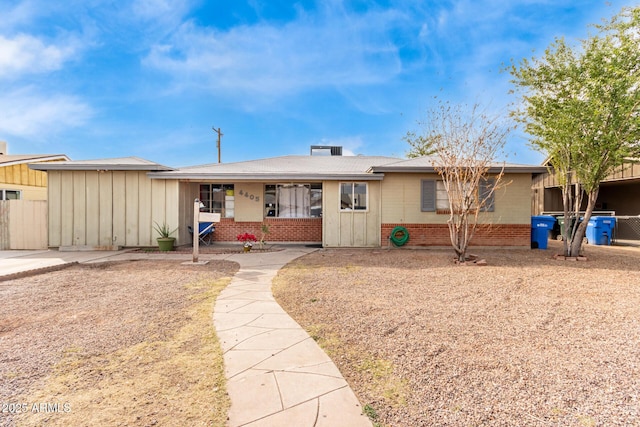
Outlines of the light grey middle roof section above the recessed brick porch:
{"type": "Polygon", "coordinates": [[[155,179],[291,181],[350,179],[375,181],[382,174],[371,173],[372,165],[400,159],[379,156],[282,156],[235,163],[213,163],[149,173],[155,179]]]}

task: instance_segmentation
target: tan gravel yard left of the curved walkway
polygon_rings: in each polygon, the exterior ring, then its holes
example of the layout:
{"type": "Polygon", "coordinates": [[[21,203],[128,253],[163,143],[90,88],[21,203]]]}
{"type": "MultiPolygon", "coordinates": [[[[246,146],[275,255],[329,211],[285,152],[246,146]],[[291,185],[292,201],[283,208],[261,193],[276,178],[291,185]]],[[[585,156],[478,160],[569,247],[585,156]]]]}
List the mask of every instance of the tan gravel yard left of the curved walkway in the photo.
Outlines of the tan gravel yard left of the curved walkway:
{"type": "MultiPolygon", "coordinates": [[[[186,377],[167,379],[171,375],[164,375],[157,380],[164,390],[145,391],[145,383],[154,385],[153,363],[184,361],[205,344],[209,346],[215,299],[209,294],[211,284],[233,276],[237,269],[237,264],[227,261],[195,267],[173,261],[129,261],[79,265],[0,282],[0,425],[13,425],[20,418],[15,416],[16,409],[28,413],[22,418],[28,425],[49,424],[47,419],[65,425],[60,416],[65,412],[80,417],[83,425],[98,425],[91,421],[98,408],[108,413],[105,422],[109,425],[161,425],[167,408],[158,407],[162,399],[154,393],[179,399],[193,384],[186,377]],[[207,325],[188,331],[199,316],[191,309],[201,302],[205,305],[199,308],[203,311],[200,317],[207,325]],[[167,344],[175,343],[176,336],[182,339],[179,349],[167,344]],[[123,377],[123,372],[131,375],[123,377]],[[136,376],[140,373],[145,377],[136,376]],[[51,386],[56,381],[58,394],[51,386]],[[109,381],[119,384],[119,391],[109,391],[111,397],[91,394],[110,387],[109,381]],[[118,394],[126,396],[136,388],[147,394],[145,401],[118,401],[118,394]],[[83,395],[93,399],[84,403],[84,413],[75,403],[69,407],[71,396],[81,401],[83,395]],[[39,396],[38,400],[33,396],[39,396]],[[34,403],[44,403],[44,412],[54,413],[38,415],[31,423],[34,403]],[[16,408],[16,404],[24,406],[16,408]]],[[[200,410],[213,412],[211,407],[200,410]]],[[[226,416],[224,408],[223,412],[226,416]]],[[[178,417],[175,422],[173,425],[183,425],[185,420],[178,417]]]]}

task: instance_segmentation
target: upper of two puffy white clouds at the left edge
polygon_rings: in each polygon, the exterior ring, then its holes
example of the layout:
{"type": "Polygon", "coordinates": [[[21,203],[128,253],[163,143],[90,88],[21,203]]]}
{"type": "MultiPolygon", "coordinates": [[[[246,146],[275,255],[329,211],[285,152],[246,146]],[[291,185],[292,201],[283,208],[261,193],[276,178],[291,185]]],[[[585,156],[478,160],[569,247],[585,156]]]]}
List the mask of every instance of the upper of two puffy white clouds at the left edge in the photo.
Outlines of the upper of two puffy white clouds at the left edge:
{"type": "Polygon", "coordinates": [[[28,34],[13,38],[0,35],[0,78],[17,78],[62,68],[76,51],[73,42],[61,45],[45,44],[28,34]]]}

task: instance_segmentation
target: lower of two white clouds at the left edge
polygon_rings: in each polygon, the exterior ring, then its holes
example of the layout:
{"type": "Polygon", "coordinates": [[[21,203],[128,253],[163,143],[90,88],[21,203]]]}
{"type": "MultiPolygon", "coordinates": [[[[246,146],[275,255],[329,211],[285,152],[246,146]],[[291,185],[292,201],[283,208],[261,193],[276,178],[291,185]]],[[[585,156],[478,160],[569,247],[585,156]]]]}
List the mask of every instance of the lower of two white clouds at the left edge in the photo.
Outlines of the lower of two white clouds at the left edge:
{"type": "Polygon", "coordinates": [[[0,134],[46,139],[86,123],[92,109],[73,96],[45,95],[30,88],[0,97],[0,134]]]}

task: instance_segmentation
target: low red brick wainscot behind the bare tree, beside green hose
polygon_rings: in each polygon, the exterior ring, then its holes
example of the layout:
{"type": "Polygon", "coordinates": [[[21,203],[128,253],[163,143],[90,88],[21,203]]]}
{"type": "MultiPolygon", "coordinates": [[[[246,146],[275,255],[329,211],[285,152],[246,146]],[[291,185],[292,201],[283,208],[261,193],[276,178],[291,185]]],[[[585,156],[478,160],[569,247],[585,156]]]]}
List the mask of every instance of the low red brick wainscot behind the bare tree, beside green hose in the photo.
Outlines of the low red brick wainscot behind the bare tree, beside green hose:
{"type": "MultiPolygon", "coordinates": [[[[389,243],[389,235],[396,226],[409,232],[407,246],[449,246],[449,227],[446,224],[382,224],[381,244],[389,243]]],[[[530,224],[497,224],[480,226],[470,246],[530,246],[530,224]]]]}

